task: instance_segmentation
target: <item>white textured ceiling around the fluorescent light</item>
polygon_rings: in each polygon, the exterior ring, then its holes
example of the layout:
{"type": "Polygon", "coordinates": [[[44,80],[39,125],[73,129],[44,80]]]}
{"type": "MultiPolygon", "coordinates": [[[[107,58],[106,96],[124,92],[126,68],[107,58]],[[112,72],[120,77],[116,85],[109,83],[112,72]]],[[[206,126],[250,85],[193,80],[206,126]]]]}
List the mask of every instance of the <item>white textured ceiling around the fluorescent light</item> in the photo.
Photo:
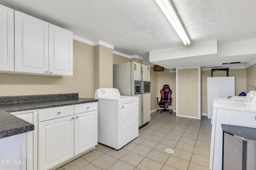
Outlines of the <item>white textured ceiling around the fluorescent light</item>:
{"type": "MultiPolygon", "coordinates": [[[[191,43],[256,38],[255,0],[172,3],[191,43]]],[[[154,0],[1,0],[0,4],[73,31],[78,37],[114,45],[115,51],[145,61],[149,51],[183,46],[154,0]]]]}

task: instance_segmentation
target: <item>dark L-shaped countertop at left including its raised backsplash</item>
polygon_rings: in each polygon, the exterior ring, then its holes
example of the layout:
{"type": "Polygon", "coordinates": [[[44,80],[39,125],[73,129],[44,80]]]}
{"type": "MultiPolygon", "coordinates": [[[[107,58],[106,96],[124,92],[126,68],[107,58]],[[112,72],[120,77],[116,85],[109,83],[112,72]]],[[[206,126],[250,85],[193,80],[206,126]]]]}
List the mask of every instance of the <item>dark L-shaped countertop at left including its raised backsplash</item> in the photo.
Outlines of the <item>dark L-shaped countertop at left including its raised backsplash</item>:
{"type": "Polygon", "coordinates": [[[95,99],[78,98],[78,94],[0,97],[0,139],[34,130],[33,124],[12,115],[11,112],[68,106],[97,101],[98,100],[95,99]]]}

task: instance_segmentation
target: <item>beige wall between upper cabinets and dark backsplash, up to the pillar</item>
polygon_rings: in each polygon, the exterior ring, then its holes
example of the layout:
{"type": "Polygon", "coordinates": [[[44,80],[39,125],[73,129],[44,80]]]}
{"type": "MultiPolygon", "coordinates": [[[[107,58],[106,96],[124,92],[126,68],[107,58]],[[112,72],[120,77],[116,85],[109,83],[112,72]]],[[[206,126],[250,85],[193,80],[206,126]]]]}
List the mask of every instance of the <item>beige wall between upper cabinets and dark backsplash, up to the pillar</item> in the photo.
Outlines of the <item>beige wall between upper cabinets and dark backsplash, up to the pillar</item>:
{"type": "Polygon", "coordinates": [[[94,97],[94,47],[73,41],[73,76],[0,73],[0,96],[79,93],[94,97]]]}

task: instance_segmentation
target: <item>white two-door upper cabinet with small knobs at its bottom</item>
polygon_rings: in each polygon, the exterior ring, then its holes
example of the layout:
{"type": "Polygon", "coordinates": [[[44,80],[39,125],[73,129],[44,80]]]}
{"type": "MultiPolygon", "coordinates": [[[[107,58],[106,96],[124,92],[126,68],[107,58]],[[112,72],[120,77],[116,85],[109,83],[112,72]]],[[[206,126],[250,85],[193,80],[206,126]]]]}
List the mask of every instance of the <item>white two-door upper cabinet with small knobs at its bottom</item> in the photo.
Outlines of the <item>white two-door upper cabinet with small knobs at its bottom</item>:
{"type": "Polygon", "coordinates": [[[14,11],[14,35],[15,72],[73,75],[71,31],[14,11]]]}

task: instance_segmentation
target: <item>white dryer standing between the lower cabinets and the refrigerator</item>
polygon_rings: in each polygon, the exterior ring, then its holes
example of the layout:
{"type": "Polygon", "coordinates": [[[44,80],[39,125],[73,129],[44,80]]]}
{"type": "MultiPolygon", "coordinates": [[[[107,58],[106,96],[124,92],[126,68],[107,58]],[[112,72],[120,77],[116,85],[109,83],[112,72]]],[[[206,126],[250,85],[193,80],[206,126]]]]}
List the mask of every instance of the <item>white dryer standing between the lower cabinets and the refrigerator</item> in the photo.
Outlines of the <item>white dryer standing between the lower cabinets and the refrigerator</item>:
{"type": "Polygon", "coordinates": [[[120,96],[116,88],[100,88],[94,99],[98,99],[98,143],[120,149],[138,137],[138,97],[120,96]]]}

